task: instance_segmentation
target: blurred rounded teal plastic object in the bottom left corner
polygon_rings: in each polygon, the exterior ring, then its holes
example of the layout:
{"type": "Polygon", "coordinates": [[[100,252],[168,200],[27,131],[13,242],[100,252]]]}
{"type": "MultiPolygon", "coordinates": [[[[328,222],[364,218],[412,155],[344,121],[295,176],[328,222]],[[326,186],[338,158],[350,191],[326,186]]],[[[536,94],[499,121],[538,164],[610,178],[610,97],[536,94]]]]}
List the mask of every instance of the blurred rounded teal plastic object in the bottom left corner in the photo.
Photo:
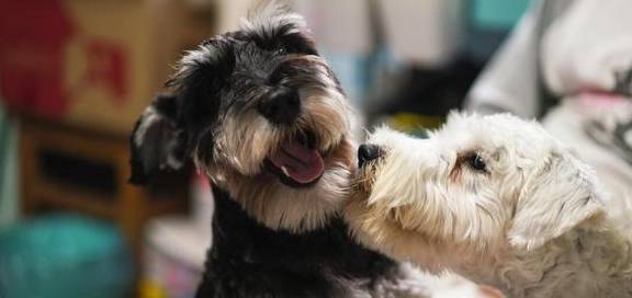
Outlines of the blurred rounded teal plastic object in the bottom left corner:
{"type": "Polygon", "coordinates": [[[133,265],[106,222],[58,214],[0,232],[0,298],[132,297],[133,265]]]}

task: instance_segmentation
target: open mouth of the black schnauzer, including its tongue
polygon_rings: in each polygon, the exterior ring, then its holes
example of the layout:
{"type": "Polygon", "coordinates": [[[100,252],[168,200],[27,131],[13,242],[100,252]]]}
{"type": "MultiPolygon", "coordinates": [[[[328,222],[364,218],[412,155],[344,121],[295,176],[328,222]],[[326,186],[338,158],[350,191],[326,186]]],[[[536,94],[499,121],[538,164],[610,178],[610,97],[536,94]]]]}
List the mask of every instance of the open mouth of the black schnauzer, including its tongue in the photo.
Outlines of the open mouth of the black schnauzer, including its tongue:
{"type": "Polygon", "coordinates": [[[289,139],[268,157],[268,168],[290,186],[308,186],[325,171],[323,154],[315,145],[316,137],[312,133],[289,139]]]}

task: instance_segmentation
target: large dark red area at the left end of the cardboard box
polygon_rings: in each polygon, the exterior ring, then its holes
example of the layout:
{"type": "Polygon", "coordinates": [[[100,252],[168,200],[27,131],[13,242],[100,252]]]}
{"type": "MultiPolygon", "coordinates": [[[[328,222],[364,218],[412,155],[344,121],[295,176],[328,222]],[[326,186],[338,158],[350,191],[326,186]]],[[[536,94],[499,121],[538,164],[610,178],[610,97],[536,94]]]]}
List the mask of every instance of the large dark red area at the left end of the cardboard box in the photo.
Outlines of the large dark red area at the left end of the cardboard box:
{"type": "Polygon", "coordinates": [[[60,1],[0,0],[0,94],[11,106],[60,116],[64,48],[74,28],[60,1]]]}

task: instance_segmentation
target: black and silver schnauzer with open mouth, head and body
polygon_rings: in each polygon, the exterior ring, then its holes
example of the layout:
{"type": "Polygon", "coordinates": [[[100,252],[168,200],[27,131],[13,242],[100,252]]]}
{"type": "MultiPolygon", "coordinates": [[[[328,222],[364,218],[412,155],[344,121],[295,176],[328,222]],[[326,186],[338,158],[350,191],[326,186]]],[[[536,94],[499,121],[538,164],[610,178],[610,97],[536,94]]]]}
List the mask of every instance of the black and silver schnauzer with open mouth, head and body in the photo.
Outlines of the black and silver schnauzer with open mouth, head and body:
{"type": "Polygon", "coordinates": [[[213,183],[198,297],[400,297],[416,270],[356,243],[338,216],[351,113],[304,20],[268,2],[188,53],[132,136],[132,182],[188,159],[213,183]]]}

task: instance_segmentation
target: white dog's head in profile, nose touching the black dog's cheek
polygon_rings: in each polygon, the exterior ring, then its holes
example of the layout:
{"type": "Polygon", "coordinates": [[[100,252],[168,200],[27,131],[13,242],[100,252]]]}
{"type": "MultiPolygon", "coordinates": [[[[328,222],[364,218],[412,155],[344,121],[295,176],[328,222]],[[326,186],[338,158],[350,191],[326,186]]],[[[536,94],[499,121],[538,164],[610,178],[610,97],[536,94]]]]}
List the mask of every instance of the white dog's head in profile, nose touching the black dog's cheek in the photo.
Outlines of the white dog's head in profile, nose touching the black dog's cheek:
{"type": "Polygon", "coordinates": [[[381,128],[359,162],[359,239],[430,267],[532,251],[602,211],[590,170],[509,115],[452,114],[427,139],[381,128]]]}

